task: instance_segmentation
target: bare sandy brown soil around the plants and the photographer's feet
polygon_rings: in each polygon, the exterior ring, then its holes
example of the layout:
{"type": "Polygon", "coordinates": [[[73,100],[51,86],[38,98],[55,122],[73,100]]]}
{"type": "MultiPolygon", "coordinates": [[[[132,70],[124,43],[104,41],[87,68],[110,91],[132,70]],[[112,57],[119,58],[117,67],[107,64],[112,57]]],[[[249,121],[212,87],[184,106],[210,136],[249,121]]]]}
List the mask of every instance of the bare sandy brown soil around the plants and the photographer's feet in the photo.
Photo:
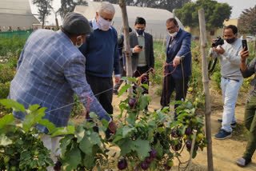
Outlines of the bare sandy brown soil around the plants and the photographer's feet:
{"type": "MultiPolygon", "coordinates": [[[[150,85],[150,99],[152,100],[149,105],[149,110],[151,112],[154,109],[159,109],[160,106],[160,97],[156,94],[156,90],[159,85],[150,85]]],[[[188,97],[190,94],[188,94],[188,97]]],[[[114,113],[119,113],[118,104],[119,101],[125,99],[127,97],[126,93],[123,93],[121,97],[114,95],[113,97],[113,106],[114,113]]],[[[216,140],[214,139],[214,135],[218,133],[221,128],[221,123],[217,120],[222,118],[222,94],[218,93],[214,89],[210,89],[210,98],[211,98],[211,137],[212,137],[212,151],[213,151],[213,160],[214,160],[214,170],[223,170],[223,171],[244,171],[244,170],[256,170],[256,154],[252,158],[252,163],[246,166],[246,168],[241,168],[236,165],[236,160],[239,157],[242,157],[246,149],[246,141],[248,140],[248,131],[243,126],[243,117],[245,110],[245,102],[246,102],[246,93],[239,94],[238,101],[236,104],[235,115],[238,121],[237,128],[234,129],[232,137],[226,140],[216,140]]],[[[75,123],[79,124],[83,121],[83,116],[77,116],[72,118],[71,120],[75,123]]],[[[256,143],[256,142],[255,142],[256,143]]],[[[117,148],[113,148],[110,150],[111,153],[118,153],[117,148]]],[[[116,155],[118,156],[118,155],[116,155]]],[[[182,152],[182,161],[187,161],[189,159],[189,153],[184,150],[182,152]],[[184,154],[183,154],[184,153],[184,154]]],[[[111,170],[111,169],[106,169],[111,170]]],[[[112,169],[118,170],[118,169],[112,169]]],[[[174,160],[174,167],[172,170],[178,170],[178,161],[174,160]]],[[[183,170],[183,169],[181,169],[183,170]]],[[[207,152],[206,148],[201,151],[198,150],[198,155],[192,160],[191,170],[200,171],[207,170],[207,152]]]]}

